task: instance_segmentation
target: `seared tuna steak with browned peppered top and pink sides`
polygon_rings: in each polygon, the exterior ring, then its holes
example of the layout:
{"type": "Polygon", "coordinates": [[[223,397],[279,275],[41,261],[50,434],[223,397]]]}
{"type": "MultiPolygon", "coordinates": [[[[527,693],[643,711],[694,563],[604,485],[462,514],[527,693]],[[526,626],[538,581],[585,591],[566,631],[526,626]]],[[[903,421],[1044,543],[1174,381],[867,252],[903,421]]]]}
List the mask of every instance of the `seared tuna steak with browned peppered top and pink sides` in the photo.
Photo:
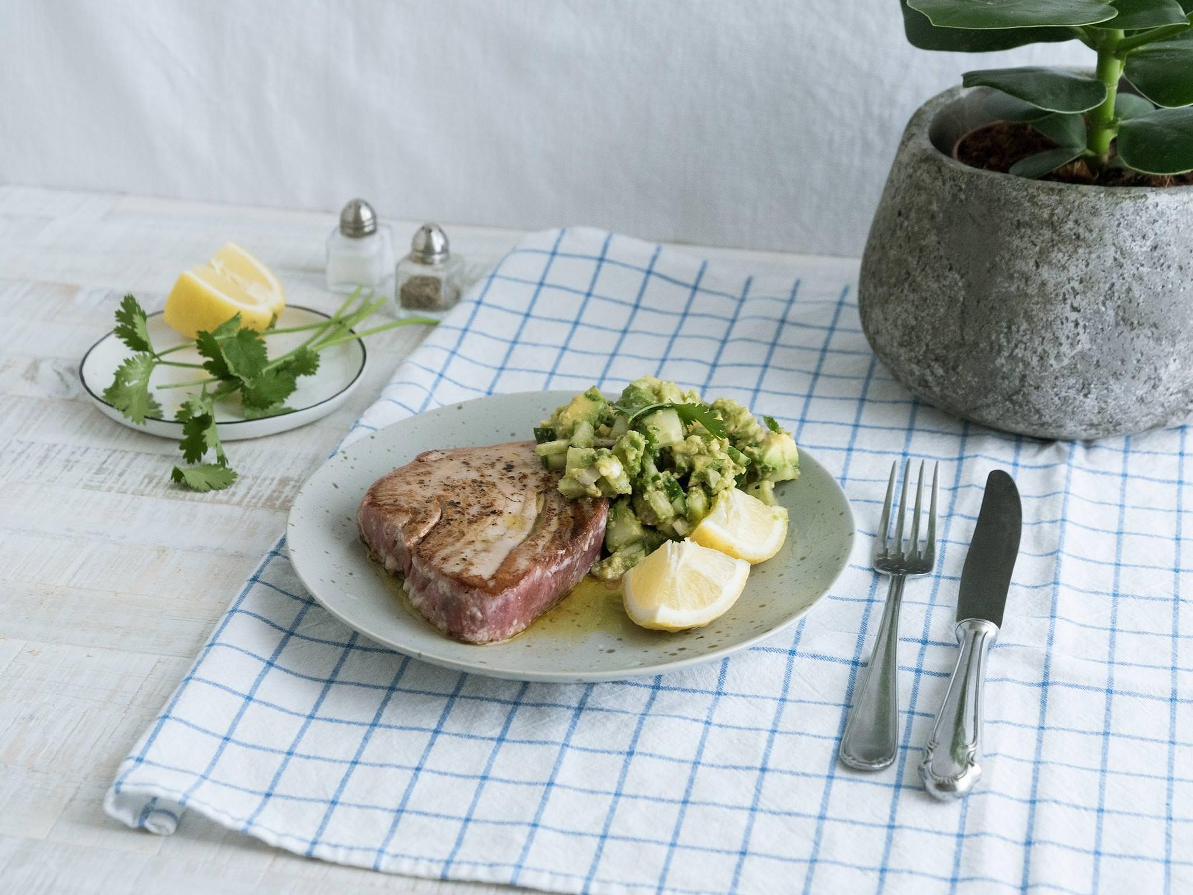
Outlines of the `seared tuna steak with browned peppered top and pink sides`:
{"type": "Polygon", "coordinates": [[[533,442],[426,451],[373,482],[357,512],[360,538],[449,637],[506,640],[600,553],[607,501],[568,500],[558,480],[533,442]]]}

